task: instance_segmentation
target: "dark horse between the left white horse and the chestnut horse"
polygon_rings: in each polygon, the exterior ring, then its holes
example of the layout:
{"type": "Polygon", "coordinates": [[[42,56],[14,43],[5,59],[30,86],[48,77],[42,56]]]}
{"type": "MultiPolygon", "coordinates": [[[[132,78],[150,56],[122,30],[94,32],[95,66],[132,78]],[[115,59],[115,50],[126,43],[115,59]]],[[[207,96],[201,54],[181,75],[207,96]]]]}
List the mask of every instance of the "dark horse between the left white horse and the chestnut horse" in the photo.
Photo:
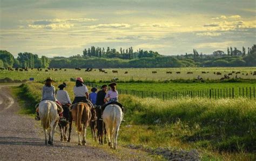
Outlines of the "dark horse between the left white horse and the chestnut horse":
{"type": "MultiPolygon", "coordinates": [[[[69,114],[69,105],[70,104],[63,104],[62,108],[63,108],[63,117],[66,119],[66,121],[70,122],[70,114],[69,114]]],[[[60,132],[60,141],[67,141],[67,130],[68,130],[68,122],[59,122],[59,132],[60,132]]]]}

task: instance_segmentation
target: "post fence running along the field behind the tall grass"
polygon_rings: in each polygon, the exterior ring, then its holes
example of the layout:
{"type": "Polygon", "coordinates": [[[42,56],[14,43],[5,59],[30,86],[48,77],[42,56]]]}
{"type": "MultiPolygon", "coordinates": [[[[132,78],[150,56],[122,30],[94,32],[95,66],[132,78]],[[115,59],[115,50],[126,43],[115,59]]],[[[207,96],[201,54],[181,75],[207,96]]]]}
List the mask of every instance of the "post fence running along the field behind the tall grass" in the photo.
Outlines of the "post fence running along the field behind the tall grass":
{"type": "MultiPolygon", "coordinates": [[[[87,86],[97,87],[99,85],[95,83],[87,83],[87,86]]],[[[237,87],[237,88],[219,88],[219,89],[201,89],[201,90],[184,90],[184,91],[170,91],[170,92],[153,92],[153,91],[140,91],[140,90],[126,90],[118,89],[119,94],[133,95],[140,98],[150,97],[153,99],[161,100],[173,100],[180,99],[183,97],[204,97],[208,99],[222,99],[231,98],[235,99],[238,97],[247,97],[255,99],[255,87],[237,87]]]]}

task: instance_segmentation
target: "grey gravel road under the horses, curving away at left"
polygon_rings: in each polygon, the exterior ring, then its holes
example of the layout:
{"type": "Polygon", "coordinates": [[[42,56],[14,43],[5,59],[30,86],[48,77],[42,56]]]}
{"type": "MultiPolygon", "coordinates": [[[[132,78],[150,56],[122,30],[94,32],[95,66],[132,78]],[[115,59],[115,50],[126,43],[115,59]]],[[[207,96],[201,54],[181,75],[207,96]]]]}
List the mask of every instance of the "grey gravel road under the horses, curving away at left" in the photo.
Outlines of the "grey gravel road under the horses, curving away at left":
{"type": "MultiPolygon", "coordinates": [[[[44,145],[42,129],[33,118],[17,114],[17,101],[8,87],[0,86],[0,160],[116,160],[102,149],[73,142],[44,145]]],[[[58,130],[58,127],[57,127],[58,130]]]]}

